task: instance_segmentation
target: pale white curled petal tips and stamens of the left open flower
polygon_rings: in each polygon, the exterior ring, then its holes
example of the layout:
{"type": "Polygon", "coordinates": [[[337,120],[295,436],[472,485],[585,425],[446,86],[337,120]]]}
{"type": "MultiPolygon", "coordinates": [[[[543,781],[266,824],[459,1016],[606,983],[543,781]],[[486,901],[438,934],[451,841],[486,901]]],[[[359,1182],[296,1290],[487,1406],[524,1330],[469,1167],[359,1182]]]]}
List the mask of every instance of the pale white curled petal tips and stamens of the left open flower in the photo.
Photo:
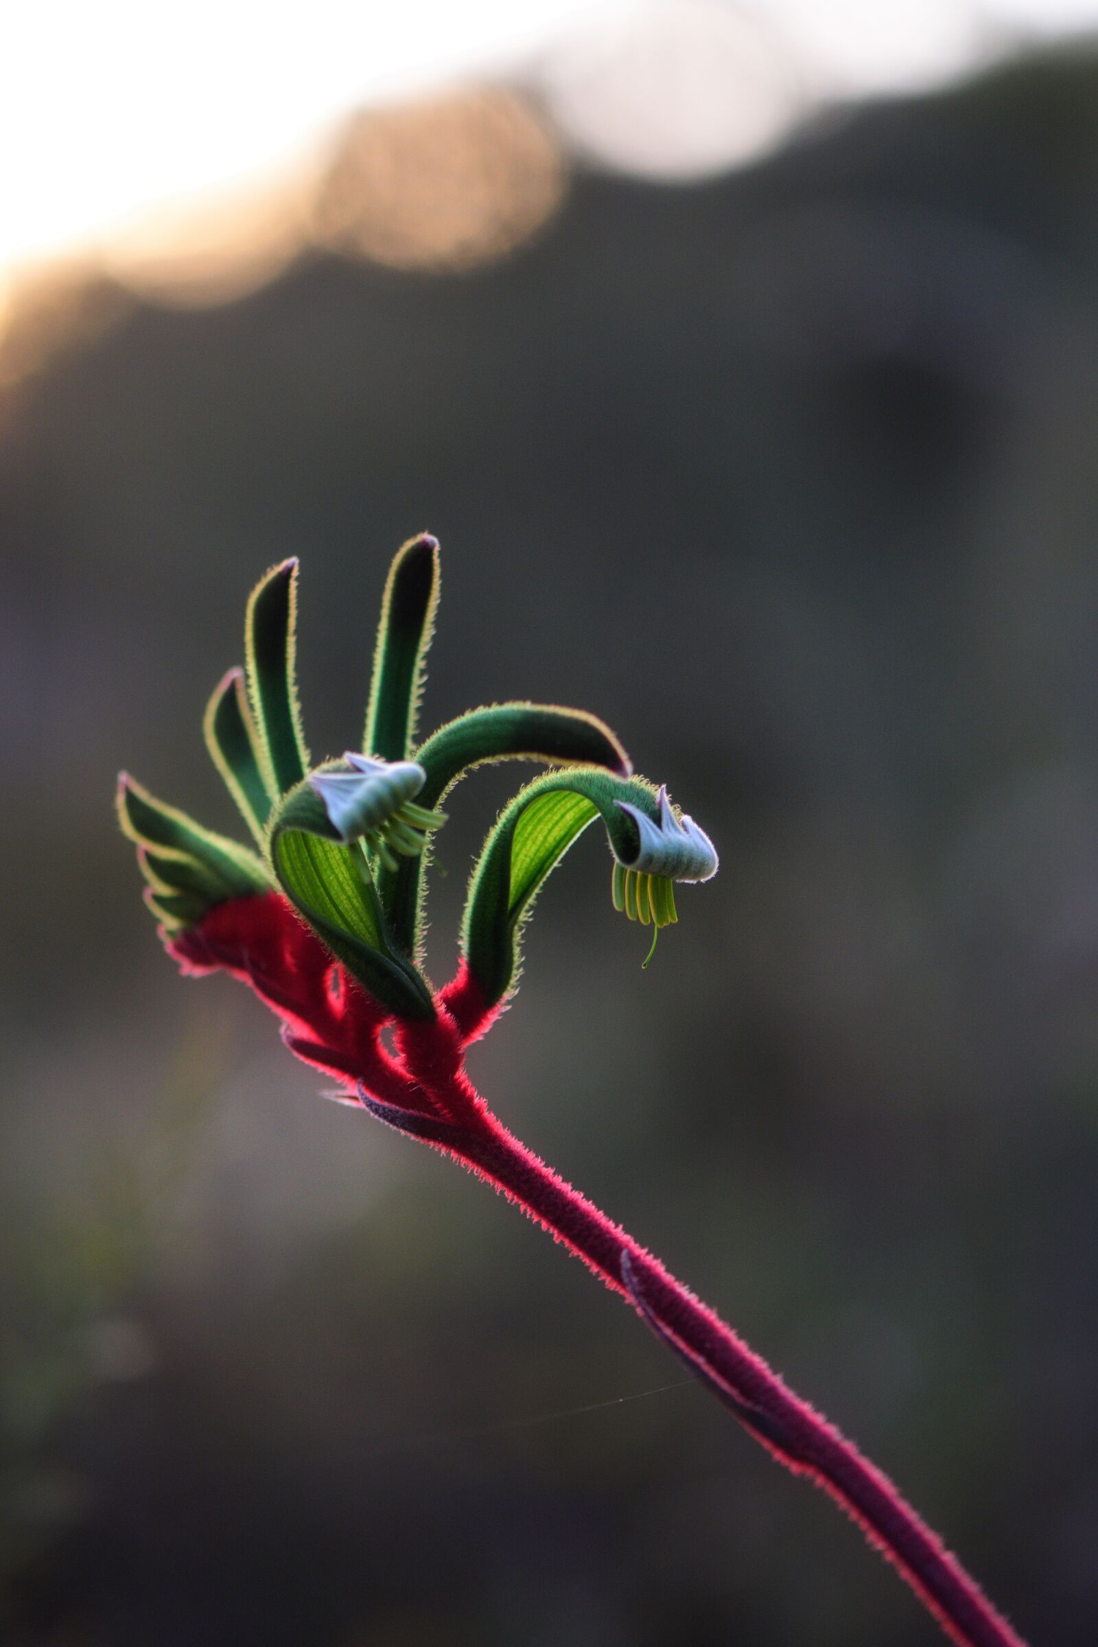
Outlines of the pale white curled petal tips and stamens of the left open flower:
{"type": "Polygon", "coordinates": [[[377,861],[395,875],[400,858],[418,858],[428,832],[441,828],[446,814],[413,800],[426,782],[418,761],[379,761],[347,749],[344,766],[321,768],[309,776],[313,789],[346,845],[362,840],[377,861]]]}

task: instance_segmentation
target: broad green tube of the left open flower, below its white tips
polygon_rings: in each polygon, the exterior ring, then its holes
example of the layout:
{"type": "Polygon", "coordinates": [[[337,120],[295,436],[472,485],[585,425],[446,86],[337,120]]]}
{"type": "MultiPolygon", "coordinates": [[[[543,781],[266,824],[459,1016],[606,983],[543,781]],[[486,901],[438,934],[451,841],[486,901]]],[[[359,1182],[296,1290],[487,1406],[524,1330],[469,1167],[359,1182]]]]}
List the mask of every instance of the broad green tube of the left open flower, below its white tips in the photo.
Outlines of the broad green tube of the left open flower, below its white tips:
{"type": "Polygon", "coordinates": [[[275,879],[374,1000],[398,1018],[433,1018],[425,978],[388,935],[365,851],[357,842],[344,843],[314,777],[291,789],[272,819],[275,879]]]}

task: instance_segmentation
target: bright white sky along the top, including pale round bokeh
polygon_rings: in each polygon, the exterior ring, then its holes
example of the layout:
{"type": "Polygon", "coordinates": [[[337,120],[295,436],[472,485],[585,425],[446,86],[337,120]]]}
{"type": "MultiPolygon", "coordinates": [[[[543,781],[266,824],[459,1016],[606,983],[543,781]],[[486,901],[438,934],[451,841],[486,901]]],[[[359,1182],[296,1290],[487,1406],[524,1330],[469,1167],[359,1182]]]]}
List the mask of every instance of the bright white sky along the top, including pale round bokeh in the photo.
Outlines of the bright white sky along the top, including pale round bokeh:
{"type": "Polygon", "coordinates": [[[349,109],[461,74],[520,71],[589,153],[690,175],[821,97],[1096,25],[1098,0],[25,0],[0,48],[0,277],[277,175],[349,109]]]}

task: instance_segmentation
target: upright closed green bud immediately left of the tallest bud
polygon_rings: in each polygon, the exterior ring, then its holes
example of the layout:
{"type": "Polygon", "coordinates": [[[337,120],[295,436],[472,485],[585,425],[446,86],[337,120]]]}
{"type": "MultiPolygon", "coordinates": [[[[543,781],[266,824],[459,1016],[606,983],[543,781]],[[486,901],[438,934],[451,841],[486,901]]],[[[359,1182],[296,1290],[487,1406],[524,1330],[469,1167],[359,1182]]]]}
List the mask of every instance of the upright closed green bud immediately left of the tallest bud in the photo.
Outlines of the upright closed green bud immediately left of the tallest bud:
{"type": "Polygon", "coordinates": [[[247,682],[263,776],[285,796],[308,769],[296,685],[298,562],[283,560],[249,596],[244,629],[247,682]]]}

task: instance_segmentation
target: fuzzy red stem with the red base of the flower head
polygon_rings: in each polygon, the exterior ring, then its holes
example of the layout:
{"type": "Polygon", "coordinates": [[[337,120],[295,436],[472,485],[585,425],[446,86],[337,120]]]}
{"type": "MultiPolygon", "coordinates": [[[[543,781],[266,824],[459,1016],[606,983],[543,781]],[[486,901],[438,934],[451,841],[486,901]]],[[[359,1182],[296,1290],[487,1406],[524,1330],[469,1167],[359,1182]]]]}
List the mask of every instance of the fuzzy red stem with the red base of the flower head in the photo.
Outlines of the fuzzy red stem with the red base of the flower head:
{"type": "Polygon", "coordinates": [[[565,1242],[782,1464],[823,1487],[900,1571],[960,1647],[1024,1647],[979,1586],[889,1477],[813,1411],[708,1304],[621,1225],[558,1178],[491,1113],[464,1067],[487,1008],[468,968],[436,996],[436,1016],[395,1024],[397,1057],[380,1044],[388,1015],[275,893],[232,899],[173,937],[184,970],[224,967],[283,1019],[286,1044],[336,1074],[380,1120],[464,1161],[565,1242]],[[379,1102],[380,1100],[380,1102],[379,1102]]]}

